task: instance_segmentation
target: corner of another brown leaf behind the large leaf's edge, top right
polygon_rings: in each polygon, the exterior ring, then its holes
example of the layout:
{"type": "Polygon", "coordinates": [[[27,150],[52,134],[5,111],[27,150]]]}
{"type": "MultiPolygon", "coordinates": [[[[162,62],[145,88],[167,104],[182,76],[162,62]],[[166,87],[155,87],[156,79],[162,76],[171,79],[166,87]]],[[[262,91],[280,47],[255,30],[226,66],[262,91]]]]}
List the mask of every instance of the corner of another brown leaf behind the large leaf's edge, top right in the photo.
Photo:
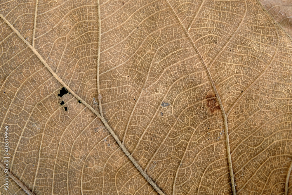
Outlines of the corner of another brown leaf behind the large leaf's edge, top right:
{"type": "Polygon", "coordinates": [[[292,1],[291,0],[260,0],[274,20],[292,36],[292,1]]]}

